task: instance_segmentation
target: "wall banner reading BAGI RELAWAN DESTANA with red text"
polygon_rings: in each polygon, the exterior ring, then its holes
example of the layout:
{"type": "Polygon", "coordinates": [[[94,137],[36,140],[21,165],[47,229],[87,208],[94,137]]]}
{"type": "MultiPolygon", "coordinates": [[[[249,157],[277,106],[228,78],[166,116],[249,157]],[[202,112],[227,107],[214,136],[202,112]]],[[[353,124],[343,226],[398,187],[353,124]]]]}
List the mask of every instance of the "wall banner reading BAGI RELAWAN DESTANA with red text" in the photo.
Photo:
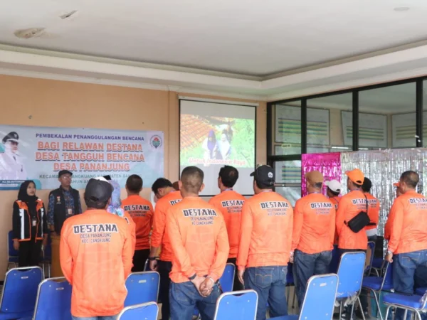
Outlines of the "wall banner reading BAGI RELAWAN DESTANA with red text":
{"type": "Polygon", "coordinates": [[[73,173],[73,188],[110,175],[124,187],[142,176],[144,187],[163,176],[163,132],[0,125],[0,190],[33,180],[39,189],[58,188],[58,172],[73,173]]]}

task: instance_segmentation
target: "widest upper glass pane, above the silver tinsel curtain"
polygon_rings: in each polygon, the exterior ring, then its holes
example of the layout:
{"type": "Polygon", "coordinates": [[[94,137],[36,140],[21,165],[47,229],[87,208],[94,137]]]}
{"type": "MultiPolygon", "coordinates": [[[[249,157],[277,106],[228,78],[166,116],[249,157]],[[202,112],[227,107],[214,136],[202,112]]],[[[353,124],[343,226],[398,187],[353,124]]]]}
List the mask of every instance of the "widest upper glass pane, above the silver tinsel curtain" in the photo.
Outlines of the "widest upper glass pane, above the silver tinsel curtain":
{"type": "Polygon", "coordinates": [[[416,146],[416,84],[359,91],[359,149],[416,146]]]}

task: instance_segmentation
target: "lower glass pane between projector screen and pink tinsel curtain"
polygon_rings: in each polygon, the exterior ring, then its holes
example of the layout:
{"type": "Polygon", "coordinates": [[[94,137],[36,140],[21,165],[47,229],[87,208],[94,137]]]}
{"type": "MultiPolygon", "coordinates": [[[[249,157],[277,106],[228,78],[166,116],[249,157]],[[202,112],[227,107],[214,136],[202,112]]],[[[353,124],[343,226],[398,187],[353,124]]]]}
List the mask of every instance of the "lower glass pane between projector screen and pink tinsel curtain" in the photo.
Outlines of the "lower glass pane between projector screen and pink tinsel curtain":
{"type": "Polygon", "coordinates": [[[301,161],[275,161],[275,191],[288,199],[292,206],[301,198],[301,161]]]}

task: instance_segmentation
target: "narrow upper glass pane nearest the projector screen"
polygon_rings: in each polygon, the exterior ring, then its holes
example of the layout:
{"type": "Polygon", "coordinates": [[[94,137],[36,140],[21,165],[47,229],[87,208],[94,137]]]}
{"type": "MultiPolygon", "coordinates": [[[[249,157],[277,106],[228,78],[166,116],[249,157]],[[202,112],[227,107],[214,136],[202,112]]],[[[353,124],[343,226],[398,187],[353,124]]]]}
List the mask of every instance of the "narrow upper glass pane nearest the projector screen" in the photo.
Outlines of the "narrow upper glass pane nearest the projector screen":
{"type": "Polygon", "coordinates": [[[275,105],[273,154],[301,154],[301,102],[275,105]]]}

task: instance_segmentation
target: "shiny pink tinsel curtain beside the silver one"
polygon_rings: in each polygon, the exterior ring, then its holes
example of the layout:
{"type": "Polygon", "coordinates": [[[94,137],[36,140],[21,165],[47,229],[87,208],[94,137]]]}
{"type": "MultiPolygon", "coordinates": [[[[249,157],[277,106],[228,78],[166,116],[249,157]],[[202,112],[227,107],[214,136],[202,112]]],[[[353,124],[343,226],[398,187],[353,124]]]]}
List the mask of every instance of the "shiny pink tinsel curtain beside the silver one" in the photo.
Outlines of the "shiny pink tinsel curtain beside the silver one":
{"type": "MultiPolygon", "coordinates": [[[[320,171],[325,177],[325,182],[337,180],[341,182],[341,154],[302,154],[301,160],[301,194],[307,196],[307,183],[305,174],[310,171],[320,171]]],[[[326,188],[323,193],[326,195],[326,188]]]]}

